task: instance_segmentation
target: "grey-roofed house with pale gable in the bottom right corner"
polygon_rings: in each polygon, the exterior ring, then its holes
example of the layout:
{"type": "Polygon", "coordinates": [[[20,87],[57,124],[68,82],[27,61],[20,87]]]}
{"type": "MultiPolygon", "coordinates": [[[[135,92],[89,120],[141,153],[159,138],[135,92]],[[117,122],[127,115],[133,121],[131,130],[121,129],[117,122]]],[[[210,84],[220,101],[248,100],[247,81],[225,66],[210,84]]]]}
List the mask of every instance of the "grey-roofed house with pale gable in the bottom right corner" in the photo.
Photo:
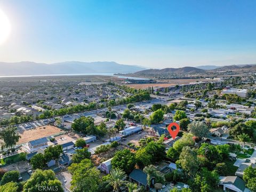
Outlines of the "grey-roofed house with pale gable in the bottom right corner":
{"type": "Polygon", "coordinates": [[[224,191],[250,192],[250,190],[245,187],[244,180],[237,176],[221,176],[219,185],[223,186],[224,191]]]}

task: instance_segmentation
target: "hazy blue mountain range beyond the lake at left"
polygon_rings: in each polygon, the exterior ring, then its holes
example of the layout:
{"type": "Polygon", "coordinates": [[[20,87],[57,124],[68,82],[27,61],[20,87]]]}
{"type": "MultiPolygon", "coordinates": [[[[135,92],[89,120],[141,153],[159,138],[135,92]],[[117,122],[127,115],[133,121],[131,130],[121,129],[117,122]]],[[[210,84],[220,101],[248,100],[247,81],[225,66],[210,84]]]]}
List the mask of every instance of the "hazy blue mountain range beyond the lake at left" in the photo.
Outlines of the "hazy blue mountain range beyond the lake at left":
{"type": "Polygon", "coordinates": [[[146,68],[135,65],[121,65],[116,62],[79,62],[66,61],[59,63],[0,62],[0,76],[12,75],[55,75],[84,73],[134,73],[146,68]]]}

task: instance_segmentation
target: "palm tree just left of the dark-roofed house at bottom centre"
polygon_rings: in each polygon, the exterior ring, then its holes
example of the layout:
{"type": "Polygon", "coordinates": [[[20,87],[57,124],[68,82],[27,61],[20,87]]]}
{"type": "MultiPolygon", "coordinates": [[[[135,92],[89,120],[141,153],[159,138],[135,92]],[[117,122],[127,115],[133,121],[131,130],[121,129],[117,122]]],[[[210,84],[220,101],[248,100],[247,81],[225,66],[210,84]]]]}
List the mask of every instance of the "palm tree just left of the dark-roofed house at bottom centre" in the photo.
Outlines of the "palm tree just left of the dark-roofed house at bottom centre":
{"type": "Polygon", "coordinates": [[[125,185],[127,181],[125,181],[127,175],[125,172],[119,168],[112,169],[110,171],[110,179],[108,180],[108,186],[111,185],[114,188],[114,191],[118,192],[119,187],[125,185]]]}

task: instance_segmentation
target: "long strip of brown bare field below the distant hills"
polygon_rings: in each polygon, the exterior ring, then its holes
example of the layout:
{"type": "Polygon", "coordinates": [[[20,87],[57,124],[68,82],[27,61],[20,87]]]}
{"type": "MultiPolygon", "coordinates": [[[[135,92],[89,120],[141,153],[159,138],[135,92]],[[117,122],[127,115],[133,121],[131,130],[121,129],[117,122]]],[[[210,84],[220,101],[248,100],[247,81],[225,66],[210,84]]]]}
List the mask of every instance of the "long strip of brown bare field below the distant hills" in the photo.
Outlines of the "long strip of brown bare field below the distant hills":
{"type": "Polygon", "coordinates": [[[149,86],[153,87],[169,87],[173,85],[181,85],[181,84],[189,84],[189,83],[196,83],[196,82],[207,82],[213,81],[213,79],[170,79],[166,81],[166,83],[148,83],[148,84],[127,84],[129,87],[133,87],[135,89],[147,89],[149,86]]]}

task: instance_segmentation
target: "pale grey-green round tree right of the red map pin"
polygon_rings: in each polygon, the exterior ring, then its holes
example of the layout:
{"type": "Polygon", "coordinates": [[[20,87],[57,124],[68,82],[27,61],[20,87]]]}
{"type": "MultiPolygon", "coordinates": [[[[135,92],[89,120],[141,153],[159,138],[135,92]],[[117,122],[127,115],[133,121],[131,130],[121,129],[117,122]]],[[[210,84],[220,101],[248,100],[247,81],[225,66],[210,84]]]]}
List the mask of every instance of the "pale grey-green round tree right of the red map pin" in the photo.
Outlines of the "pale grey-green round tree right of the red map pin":
{"type": "Polygon", "coordinates": [[[193,121],[188,125],[188,131],[196,137],[203,138],[209,134],[209,129],[205,123],[200,121],[193,121]]]}

